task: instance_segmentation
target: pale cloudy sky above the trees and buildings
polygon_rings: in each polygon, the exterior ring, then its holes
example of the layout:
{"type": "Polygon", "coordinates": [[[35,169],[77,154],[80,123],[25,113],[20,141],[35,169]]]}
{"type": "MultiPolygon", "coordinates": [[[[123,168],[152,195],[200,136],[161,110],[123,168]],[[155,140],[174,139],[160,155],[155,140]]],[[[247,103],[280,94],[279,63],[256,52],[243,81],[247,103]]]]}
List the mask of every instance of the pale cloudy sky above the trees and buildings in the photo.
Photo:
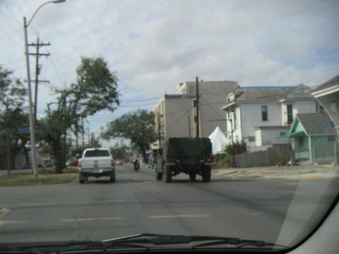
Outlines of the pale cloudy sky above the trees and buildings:
{"type": "MultiPolygon", "coordinates": [[[[26,79],[23,17],[46,1],[0,0],[0,65],[26,79]]],[[[324,83],[339,73],[339,1],[66,0],[47,4],[28,27],[41,52],[38,116],[53,87],[76,81],[81,56],[104,57],[119,78],[121,107],[88,117],[99,135],[126,112],[153,109],[178,83],[240,86],[324,83]]],[[[32,51],[32,49],[31,49],[32,51]]],[[[35,59],[30,57],[31,75],[35,59]]],[[[87,126],[86,126],[87,128],[87,126]]],[[[112,145],[111,143],[106,143],[112,145]]]]}

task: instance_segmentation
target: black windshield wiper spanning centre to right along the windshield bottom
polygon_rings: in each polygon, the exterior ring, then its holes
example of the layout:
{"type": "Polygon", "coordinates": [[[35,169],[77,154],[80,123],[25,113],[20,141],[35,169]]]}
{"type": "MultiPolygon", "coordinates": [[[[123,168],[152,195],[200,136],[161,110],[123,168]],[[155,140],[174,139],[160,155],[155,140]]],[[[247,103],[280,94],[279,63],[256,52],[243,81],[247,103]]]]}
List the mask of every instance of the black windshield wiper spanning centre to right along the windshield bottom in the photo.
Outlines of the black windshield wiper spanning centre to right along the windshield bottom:
{"type": "Polygon", "coordinates": [[[232,237],[219,237],[219,236],[182,236],[182,235],[165,235],[165,234],[137,234],[133,236],[125,236],[121,238],[114,238],[96,243],[86,244],[79,246],[72,246],[71,248],[65,248],[60,250],[60,253],[66,253],[72,250],[109,250],[112,248],[143,248],[150,249],[151,246],[167,246],[167,245],[179,245],[196,243],[194,246],[189,248],[199,248],[208,246],[220,246],[220,245],[231,245],[237,248],[244,246],[255,246],[258,248],[264,247],[281,247],[287,248],[287,246],[281,246],[275,243],[266,243],[265,241],[256,240],[245,240],[240,238],[232,237]]]}

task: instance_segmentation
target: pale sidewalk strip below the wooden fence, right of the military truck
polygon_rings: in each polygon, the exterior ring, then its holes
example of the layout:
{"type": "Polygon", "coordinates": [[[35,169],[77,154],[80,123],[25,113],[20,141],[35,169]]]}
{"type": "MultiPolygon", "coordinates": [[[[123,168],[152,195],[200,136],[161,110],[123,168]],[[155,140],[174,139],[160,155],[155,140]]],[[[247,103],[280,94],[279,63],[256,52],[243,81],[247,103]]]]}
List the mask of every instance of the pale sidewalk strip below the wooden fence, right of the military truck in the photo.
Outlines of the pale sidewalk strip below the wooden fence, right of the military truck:
{"type": "Polygon", "coordinates": [[[338,167],[290,166],[213,169],[212,174],[227,179],[321,179],[333,178],[338,167]]]}

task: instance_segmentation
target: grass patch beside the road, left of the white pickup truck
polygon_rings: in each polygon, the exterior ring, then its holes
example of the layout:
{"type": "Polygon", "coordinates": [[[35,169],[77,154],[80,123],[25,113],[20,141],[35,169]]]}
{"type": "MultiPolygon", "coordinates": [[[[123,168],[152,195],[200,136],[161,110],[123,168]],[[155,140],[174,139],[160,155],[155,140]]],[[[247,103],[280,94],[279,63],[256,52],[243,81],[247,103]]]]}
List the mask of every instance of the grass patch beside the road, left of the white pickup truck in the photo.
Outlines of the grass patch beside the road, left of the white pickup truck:
{"type": "Polygon", "coordinates": [[[64,169],[64,174],[55,174],[54,168],[39,169],[39,180],[35,181],[30,171],[0,177],[0,186],[37,186],[69,183],[78,179],[78,168],[64,169]]]}

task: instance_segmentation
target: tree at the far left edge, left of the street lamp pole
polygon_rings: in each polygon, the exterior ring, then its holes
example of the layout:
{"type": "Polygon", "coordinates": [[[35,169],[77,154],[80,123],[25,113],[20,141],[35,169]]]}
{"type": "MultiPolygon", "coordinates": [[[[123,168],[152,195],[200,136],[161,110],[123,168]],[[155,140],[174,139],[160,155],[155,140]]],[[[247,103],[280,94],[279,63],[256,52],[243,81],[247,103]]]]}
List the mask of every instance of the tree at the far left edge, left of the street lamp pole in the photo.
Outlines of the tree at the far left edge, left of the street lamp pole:
{"type": "Polygon", "coordinates": [[[28,135],[18,133],[18,128],[28,126],[28,114],[23,111],[27,90],[13,71],[0,66],[0,146],[6,146],[8,175],[15,166],[17,153],[25,147],[28,135]]]}

